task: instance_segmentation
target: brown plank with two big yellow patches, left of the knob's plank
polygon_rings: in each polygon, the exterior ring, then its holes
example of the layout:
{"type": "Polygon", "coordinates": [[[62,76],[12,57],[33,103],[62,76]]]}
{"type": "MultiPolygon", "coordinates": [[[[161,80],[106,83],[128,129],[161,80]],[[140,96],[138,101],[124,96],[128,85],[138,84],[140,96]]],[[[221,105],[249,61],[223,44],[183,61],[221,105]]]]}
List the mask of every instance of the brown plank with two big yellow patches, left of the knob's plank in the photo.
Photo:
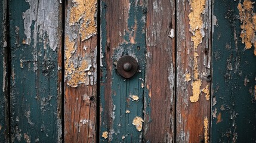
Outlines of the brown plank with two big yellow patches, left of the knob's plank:
{"type": "Polygon", "coordinates": [[[67,1],[64,141],[96,142],[97,0],[67,1]]]}

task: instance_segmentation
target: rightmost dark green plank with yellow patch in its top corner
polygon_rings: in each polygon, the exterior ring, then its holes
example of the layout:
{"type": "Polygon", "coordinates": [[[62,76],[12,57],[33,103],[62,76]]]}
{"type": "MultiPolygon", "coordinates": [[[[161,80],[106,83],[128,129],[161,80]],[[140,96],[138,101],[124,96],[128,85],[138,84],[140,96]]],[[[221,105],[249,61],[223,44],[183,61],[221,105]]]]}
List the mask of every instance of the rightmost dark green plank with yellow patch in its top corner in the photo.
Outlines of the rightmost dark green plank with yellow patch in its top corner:
{"type": "Polygon", "coordinates": [[[214,2],[212,142],[256,141],[254,2],[214,2]]]}

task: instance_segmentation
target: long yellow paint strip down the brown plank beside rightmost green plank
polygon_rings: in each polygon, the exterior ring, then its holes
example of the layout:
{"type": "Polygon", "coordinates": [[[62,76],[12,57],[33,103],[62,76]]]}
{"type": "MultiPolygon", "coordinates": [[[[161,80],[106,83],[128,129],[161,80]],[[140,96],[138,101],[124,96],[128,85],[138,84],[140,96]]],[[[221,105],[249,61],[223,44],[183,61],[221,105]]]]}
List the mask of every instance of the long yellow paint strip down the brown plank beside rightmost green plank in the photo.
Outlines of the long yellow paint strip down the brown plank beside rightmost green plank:
{"type": "Polygon", "coordinates": [[[206,0],[192,0],[189,2],[191,7],[191,12],[189,14],[189,24],[190,24],[190,32],[192,33],[191,40],[194,43],[194,81],[192,83],[193,86],[193,95],[190,97],[191,102],[197,102],[199,100],[200,95],[200,86],[202,85],[202,81],[199,80],[199,71],[198,71],[198,45],[202,43],[202,39],[205,36],[203,32],[204,24],[201,17],[201,14],[205,10],[205,1],[206,0]]]}

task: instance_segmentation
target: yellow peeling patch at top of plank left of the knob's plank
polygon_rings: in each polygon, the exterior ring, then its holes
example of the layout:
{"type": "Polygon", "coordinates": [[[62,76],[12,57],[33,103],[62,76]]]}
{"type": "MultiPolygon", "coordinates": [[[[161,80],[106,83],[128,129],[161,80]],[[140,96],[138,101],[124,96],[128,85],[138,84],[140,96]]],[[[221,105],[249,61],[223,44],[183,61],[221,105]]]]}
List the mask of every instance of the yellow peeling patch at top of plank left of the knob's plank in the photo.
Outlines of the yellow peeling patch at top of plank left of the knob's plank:
{"type": "Polygon", "coordinates": [[[70,10],[69,25],[79,24],[81,40],[89,39],[97,32],[95,20],[97,0],[73,0],[70,10]]]}

